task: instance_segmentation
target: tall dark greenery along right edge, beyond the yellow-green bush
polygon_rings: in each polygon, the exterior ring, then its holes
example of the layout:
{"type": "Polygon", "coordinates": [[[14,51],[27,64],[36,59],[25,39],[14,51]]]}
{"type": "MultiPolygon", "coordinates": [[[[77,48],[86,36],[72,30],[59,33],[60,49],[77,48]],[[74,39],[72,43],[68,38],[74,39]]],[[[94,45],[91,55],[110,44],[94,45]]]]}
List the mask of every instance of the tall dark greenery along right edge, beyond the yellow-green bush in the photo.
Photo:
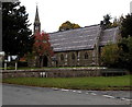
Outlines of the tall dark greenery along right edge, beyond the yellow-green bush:
{"type": "Polygon", "coordinates": [[[132,14],[125,15],[121,23],[121,36],[119,41],[120,51],[120,66],[132,70],[132,14]]]}

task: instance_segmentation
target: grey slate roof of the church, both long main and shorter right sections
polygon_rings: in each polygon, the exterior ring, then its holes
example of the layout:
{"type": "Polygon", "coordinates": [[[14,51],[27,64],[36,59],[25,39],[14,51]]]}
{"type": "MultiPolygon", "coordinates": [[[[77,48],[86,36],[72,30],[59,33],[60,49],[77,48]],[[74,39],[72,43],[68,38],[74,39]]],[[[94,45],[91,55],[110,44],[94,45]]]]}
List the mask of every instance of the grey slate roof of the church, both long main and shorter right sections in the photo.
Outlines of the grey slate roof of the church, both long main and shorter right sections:
{"type": "MultiPolygon", "coordinates": [[[[106,45],[110,40],[116,41],[117,31],[118,28],[106,29],[100,38],[100,46],[106,45]]],[[[50,43],[56,52],[92,49],[100,32],[100,25],[91,25],[82,28],[51,33],[50,43]]]]}

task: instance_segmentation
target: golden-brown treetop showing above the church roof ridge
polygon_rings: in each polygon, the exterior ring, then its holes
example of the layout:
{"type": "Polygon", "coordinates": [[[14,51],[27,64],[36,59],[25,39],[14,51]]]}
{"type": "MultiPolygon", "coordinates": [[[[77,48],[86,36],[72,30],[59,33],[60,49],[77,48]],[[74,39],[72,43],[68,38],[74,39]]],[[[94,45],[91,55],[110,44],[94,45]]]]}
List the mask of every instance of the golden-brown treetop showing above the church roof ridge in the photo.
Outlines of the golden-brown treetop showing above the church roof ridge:
{"type": "Polygon", "coordinates": [[[63,23],[59,26],[59,31],[68,31],[68,29],[75,29],[75,28],[79,28],[80,26],[78,24],[75,23],[70,23],[69,21],[66,21],[65,23],[63,23]]]}

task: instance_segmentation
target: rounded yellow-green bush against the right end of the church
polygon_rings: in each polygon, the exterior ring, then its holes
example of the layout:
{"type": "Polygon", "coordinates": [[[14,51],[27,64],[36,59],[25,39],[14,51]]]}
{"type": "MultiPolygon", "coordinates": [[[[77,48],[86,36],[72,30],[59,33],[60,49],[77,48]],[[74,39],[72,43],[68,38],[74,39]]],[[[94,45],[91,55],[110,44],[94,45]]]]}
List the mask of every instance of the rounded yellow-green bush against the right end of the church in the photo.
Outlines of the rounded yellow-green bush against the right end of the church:
{"type": "Polygon", "coordinates": [[[120,48],[118,47],[118,44],[108,44],[105,46],[101,52],[102,63],[108,67],[117,66],[119,60],[119,51],[120,48]]]}

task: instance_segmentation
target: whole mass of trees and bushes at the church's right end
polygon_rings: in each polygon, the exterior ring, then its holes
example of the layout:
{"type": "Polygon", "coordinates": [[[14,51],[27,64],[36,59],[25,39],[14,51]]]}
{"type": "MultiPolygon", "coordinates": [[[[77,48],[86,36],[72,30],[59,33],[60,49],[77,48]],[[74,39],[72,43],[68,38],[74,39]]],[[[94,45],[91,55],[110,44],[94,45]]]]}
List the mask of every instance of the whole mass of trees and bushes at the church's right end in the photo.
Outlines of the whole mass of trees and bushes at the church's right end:
{"type": "Polygon", "coordinates": [[[103,48],[102,62],[108,67],[114,66],[132,71],[132,14],[114,20],[112,25],[117,26],[117,24],[121,29],[122,38],[117,44],[117,48],[113,45],[103,48]]]}

